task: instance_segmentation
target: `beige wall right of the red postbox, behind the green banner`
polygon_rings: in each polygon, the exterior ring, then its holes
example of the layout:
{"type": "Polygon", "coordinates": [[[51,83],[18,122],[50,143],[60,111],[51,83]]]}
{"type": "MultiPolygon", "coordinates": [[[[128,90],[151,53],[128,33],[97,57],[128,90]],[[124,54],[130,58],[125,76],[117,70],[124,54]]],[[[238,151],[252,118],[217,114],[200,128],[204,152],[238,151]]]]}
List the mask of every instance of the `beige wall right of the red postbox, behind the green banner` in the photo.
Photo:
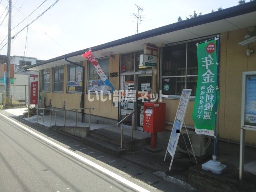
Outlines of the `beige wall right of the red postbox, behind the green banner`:
{"type": "MultiPolygon", "coordinates": [[[[218,112],[218,138],[240,142],[242,72],[256,71],[256,54],[246,55],[247,46],[238,42],[244,39],[246,29],[226,32],[220,37],[220,103],[218,112]]],[[[249,45],[256,50],[256,43],[249,45]]],[[[166,103],[166,121],[174,122],[179,100],[163,99],[166,103]]],[[[194,101],[188,104],[185,123],[192,120],[194,101]]],[[[166,126],[171,129],[172,126],[166,126]]],[[[256,145],[256,131],[246,131],[246,143],[256,145]]]]}

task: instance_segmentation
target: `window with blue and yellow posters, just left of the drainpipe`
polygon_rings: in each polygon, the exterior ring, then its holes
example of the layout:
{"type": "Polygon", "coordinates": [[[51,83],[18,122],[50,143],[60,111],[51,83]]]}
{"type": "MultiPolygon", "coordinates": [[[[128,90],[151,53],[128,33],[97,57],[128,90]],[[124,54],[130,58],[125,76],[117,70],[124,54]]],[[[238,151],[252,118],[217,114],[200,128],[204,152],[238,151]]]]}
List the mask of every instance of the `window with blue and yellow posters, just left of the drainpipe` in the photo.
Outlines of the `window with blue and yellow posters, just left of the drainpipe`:
{"type": "Polygon", "coordinates": [[[82,88],[83,88],[82,62],[78,63],[78,65],[74,65],[74,64],[68,65],[67,92],[82,93],[82,88]],[[78,65],[81,65],[81,67],[78,65]]]}

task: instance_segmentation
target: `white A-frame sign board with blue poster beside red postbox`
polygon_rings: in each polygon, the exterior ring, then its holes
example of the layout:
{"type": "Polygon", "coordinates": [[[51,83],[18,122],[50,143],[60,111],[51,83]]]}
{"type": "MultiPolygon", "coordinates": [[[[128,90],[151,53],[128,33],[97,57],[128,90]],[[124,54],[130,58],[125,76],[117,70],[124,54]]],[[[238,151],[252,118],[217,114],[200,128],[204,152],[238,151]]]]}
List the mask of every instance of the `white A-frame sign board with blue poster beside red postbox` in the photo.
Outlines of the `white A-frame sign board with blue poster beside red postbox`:
{"type": "Polygon", "coordinates": [[[179,103],[179,106],[178,106],[178,110],[177,110],[177,113],[176,113],[174,124],[172,126],[171,136],[170,136],[168,146],[167,146],[167,149],[166,149],[166,153],[165,153],[165,156],[164,156],[164,161],[166,160],[167,152],[169,152],[170,155],[172,156],[169,171],[171,170],[171,167],[172,167],[172,162],[173,162],[173,159],[174,159],[174,154],[175,154],[177,144],[178,144],[178,140],[179,140],[179,137],[180,137],[182,124],[184,122],[184,117],[185,117],[186,110],[187,110],[187,107],[188,107],[188,101],[189,101],[189,98],[190,98],[190,94],[191,94],[191,89],[183,89],[182,90],[182,94],[181,94],[181,97],[180,97],[180,103],[179,103]]]}

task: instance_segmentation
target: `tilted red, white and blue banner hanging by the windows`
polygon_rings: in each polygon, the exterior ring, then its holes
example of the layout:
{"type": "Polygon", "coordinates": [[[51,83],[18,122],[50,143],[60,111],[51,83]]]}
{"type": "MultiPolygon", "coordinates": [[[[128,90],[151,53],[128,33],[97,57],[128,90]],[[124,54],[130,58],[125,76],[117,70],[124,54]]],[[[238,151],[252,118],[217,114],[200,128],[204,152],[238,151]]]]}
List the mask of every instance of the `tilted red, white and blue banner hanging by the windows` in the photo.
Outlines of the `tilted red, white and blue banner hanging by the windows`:
{"type": "Polygon", "coordinates": [[[106,86],[106,89],[108,91],[113,92],[115,90],[114,86],[110,83],[110,81],[108,80],[106,74],[104,73],[104,71],[100,67],[100,64],[98,63],[98,61],[92,55],[91,50],[86,51],[84,54],[82,54],[82,56],[84,58],[88,59],[90,61],[90,63],[92,63],[94,65],[98,75],[100,76],[100,79],[104,82],[104,84],[106,86]]]}

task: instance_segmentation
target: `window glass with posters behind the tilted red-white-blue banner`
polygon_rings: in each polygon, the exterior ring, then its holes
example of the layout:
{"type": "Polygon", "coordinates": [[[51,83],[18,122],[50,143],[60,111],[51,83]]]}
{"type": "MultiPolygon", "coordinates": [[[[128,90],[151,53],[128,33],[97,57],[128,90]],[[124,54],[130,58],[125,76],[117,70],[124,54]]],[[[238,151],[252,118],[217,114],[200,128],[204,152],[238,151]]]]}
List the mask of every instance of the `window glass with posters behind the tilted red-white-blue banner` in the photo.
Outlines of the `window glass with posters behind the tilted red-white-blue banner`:
{"type": "MultiPolygon", "coordinates": [[[[100,67],[102,68],[103,72],[106,74],[107,77],[109,77],[109,58],[101,58],[98,59],[98,62],[100,64],[100,67]]],[[[98,91],[103,92],[103,94],[107,94],[108,90],[103,82],[103,80],[98,75],[95,67],[93,64],[88,62],[88,85],[87,85],[87,92],[90,91],[90,93],[95,93],[98,91]]]]}

